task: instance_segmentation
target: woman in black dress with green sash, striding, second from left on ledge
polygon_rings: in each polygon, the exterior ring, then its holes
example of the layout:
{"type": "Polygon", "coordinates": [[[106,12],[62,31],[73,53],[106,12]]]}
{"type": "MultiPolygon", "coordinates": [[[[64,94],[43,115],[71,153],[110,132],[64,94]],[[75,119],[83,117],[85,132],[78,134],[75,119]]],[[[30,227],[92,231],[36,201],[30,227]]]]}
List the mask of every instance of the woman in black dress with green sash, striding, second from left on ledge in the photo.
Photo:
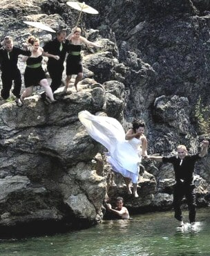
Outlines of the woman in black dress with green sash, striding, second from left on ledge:
{"type": "MultiPolygon", "coordinates": [[[[48,80],[46,79],[46,75],[41,66],[41,61],[43,59],[43,48],[39,46],[39,39],[32,36],[29,37],[28,47],[30,48],[32,54],[30,57],[23,58],[23,61],[26,62],[26,69],[24,73],[26,89],[21,95],[21,101],[23,102],[24,98],[29,97],[32,94],[33,86],[41,85],[46,91],[46,95],[49,99],[48,101],[50,103],[55,102],[53,91],[48,84],[48,80]]],[[[59,60],[59,56],[57,55],[47,53],[46,56],[59,60]]]]}

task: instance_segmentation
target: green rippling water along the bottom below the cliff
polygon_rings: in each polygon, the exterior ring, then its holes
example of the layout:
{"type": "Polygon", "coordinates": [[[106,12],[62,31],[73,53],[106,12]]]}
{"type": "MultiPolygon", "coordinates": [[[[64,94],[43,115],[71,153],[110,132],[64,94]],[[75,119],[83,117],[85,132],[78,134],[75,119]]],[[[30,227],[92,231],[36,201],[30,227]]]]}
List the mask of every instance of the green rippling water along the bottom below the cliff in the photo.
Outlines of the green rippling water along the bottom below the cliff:
{"type": "MultiPolygon", "coordinates": [[[[210,255],[210,208],[197,212],[195,228],[176,228],[173,212],[134,215],[66,234],[1,240],[0,255],[23,256],[198,256],[210,255]]],[[[188,212],[184,212],[187,221],[188,212]]]]}

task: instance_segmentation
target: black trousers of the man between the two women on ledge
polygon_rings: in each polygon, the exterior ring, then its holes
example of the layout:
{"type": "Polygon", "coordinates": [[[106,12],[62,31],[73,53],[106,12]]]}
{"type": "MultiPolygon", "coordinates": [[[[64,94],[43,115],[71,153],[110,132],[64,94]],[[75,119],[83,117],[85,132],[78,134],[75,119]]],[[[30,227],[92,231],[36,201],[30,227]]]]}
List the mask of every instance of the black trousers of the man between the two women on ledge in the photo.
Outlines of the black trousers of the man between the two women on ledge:
{"type": "Polygon", "coordinates": [[[50,87],[54,92],[59,88],[59,86],[61,86],[64,65],[48,65],[47,68],[50,78],[52,79],[50,87]]]}

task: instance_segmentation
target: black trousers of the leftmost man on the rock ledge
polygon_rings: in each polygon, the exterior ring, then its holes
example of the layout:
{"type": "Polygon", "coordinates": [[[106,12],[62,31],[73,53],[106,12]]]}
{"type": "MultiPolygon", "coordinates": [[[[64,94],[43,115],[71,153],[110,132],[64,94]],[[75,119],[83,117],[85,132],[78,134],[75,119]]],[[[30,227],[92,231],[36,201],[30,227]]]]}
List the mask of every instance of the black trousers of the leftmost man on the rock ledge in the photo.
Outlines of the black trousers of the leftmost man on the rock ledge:
{"type": "Polygon", "coordinates": [[[21,73],[18,68],[15,71],[12,71],[11,73],[2,72],[1,80],[2,80],[1,97],[4,100],[10,97],[10,89],[12,88],[12,81],[14,81],[14,89],[12,90],[12,93],[17,98],[20,98],[22,80],[21,80],[21,73]]]}

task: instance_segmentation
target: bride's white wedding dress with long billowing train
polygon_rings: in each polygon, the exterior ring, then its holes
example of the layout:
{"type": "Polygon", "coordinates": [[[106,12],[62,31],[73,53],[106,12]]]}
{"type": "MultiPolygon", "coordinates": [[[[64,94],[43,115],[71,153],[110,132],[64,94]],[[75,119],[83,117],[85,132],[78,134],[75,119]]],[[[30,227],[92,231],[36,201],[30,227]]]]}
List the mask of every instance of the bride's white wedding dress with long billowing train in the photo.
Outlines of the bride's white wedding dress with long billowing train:
{"type": "Polygon", "coordinates": [[[115,118],[94,116],[88,111],[79,112],[78,117],[88,134],[108,149],[107,160],[113,171],[137,183],[142,159],[142,140],[125,140],[124,129],[115,118]]]}

